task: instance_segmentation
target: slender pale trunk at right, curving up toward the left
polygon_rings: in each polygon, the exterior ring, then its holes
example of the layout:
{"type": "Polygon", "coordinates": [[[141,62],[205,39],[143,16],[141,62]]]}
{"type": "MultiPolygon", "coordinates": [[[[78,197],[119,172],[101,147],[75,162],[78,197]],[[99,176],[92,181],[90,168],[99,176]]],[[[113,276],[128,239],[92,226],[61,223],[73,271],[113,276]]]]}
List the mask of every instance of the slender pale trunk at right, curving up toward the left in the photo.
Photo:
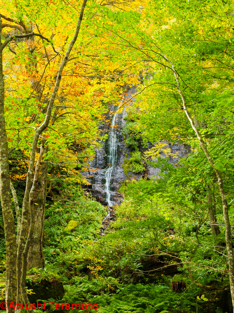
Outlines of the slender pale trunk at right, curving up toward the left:
{"type": "Polygon", "coordinates": [[[207,147],[202,139],[202,136],[199,130],[197,129],[197,127],[195,126],[194,121],[188,112],[186,100],[183,95],[183,92],[180,90],[180,84],[179,84],[179,80],[177,77],[177,72],[174,69],[173,64],[164,55],[163,55],[163,58],[167,60],[172,66],[172,70],[173,70],[173,73],[177,82],[177,91],[180,94],[180,97],[183,101],[184,112],[187,115],[188,120],[194,132],[196,133],[197,139],[199,140],[200,146],[203,152],[205,153],[205,156],[208,162],[210,163],[213,170],[215,171],[217,179],[218,179],[219,192],[220,192],[221,199],[222,199],[223,218],[224,218],[224,223],[225,223],[225,237],[226,237],[226,245],[227,245],[227,256],[228,256],[228,261],[229,261],[229,283],[230,283],[230,290],[231,290],[231,296],[232,296],[232,307],[233,307],[233,312],[234,312],[234,255],[233,255],[233,249],[232,249],[231,224],[230,224],[229,216],[228,216],[227,198],[226,198],[225,190],[223,187],[222,172],[216,168],[215,162],[213,161],[209,151],[207,150],[207,147]]]}

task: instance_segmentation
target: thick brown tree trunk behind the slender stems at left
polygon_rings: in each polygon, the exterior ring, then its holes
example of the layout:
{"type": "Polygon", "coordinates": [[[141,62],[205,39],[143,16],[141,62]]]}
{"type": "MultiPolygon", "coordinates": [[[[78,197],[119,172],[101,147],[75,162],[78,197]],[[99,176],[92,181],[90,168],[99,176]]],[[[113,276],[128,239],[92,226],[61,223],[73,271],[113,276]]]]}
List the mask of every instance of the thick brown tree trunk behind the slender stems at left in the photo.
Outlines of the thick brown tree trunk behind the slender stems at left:
{"type": "Polygon", "coordinates": [[[48,163],[47,162],[42,163],[41,176],[37,180],[33,196],[35,209],[35,227],[27,257],[28,269],[32,269],[33,267],[44,268],[45,266],[44,255],[42,252],[43,248],[42,239],[45,221],[47,173],[48,173],[48,163]]]}

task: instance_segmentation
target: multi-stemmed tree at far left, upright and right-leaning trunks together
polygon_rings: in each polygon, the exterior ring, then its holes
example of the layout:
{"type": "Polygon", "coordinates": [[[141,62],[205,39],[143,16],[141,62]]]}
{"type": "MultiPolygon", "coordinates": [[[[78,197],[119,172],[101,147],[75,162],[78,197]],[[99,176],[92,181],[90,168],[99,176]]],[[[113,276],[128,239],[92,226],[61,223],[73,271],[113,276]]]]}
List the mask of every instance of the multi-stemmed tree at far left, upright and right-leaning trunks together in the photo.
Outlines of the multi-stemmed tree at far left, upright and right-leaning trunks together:
{"type": "MultiPolygon", "coordinates": [[[[12,215],[12,205],[11,205],[11,198],[10,198],[8,146],[7,146],[5,118],[4,118],[5,95],[4,95],[4,77],[3,77],[3,69],[2,69],[2,52],[3,52],[3,49],[6,47],[7,43],[10,42],[13,38],[26,38],[30,36],[42,37],[42,36],[40,34],[35,34],[33,32],[27,35],[13,35],[13,36],[10,36],[8,39],[6,39],[6,41],[3,43],[2,43],[2,38],[0,38],[1,39],[1,47],[0,47],[0,53],[1,53],[0,54],[0,115],[1,115],[0,195],[1,195],[2,211],[3,211],[3,218],[4,218],[4,229],[5,229],[5,236],[6,236],[6,250],[7,250],[6,302],[8,305],[10,304],[11,301],[13,301],[13,303],[16,303],[17,301],[18,303],[21,303],[20,301],[21,295],[22,295],[22,299],[24,303],[29,303],[27,292],[26,292],[26,287],[25,287],[25,279],[26,279],[26,271],[27,271],[27,254],[28,254],[29,245],[32,240],[34,226],[35,226],[35,210],[34,210],[33,196],[34,196],[34,190],[37,185],[39,166],[40,166],[41,158],[44,153],[45,141],[46,141],[46,139],[43,136],[41,136],[41,133],[46,129],[46,127],[49,124],[55,96],[57,94],[57,90],[61,82],[62,71],[66,65],[71,49],[76,42],[76,38],[80,30],[80,24],[83,18],[85,5],[86,5],[86,0],[84,0],[82,7],[81,7],[79,20],[76,26],[76,32],[74,34],[73,39],[71,40],[71,43],[66,51],[64,59],[61,62],[60,68],[58,70],[56,83],[54,85],[54,90],[52,92],[50,102],[48,104],[45,120],[38,129],[37,128],[35,129],[31,155],[30,155],[30,164],[29,164],[29,168],[27,172],[27,183],[26,183],[26,190],[25,190],[25,196],[24,196],[24,202],[23,202],[23,208],[22,208],[22,222],[21,222],[21,228],[20,228],[18,247],[16,245],[16,236],[15,236],[14,221],[13,221],[13,215],[12,215]],[[38,143],[40,136],[42,137],[40,155],[36,163],[35,173],[33,177],[37,143],[38,143]],[[33,179],[33,183],[31,183],[32,179],[33,179]],[[28,203],[29,203],[29,206],[28,206],[28,203]],[[25,235],[26,235],[26,229],[27,229],[27,215],[28,215],[28,209],[29,209],[28,207],[30,208],[31,221],[30,221],[30,228],[29,228],[29,233],[27,236],[27,241],[25,243],[25,235]],[[16,252],[17,252],[17,257],[16,257],[16,252]],[[17,273],[17,277],[15,277],[15,273],[17,273]]],[[[2,33],[2,20],[0,24],[0,33],[2,33]]],[[[28,311],[33,311],[33,310],[28,310],[28,311]]]]}

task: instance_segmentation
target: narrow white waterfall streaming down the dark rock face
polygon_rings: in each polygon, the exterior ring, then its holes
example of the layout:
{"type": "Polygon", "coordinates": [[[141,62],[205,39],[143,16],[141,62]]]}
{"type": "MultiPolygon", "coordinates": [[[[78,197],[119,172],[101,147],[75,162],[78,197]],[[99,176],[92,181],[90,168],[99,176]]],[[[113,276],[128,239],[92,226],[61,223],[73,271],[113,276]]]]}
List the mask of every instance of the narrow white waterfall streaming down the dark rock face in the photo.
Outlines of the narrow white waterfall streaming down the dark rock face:
{"type": "Polygon", "coordinates": [[[113,203],[110,201],[110,180],[113,172],[113,168],[117,162],[117,143],[116,139],[117,131],[115,128],[115,120],[118,116],[118,113],[115,113],[111,120],[110,132],[108,138],[108,157],[107,163],[110,163],[108,170],[105,172],[106,183],[105,183],[105,192],[106,192],[106,201],[109,207],[113,206],[113,203]]]}

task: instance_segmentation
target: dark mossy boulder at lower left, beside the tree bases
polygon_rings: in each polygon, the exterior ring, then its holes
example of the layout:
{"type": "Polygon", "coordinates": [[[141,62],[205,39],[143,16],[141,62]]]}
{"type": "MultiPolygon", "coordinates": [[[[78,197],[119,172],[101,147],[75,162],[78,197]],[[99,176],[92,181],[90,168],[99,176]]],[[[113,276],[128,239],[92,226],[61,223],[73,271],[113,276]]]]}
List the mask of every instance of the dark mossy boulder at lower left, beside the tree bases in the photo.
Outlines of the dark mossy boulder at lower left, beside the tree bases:
{"type": "Polygon", "coordinates": [[[34,292],[34,294],[28,295],[30,303],[36,303],[38,299],[48,301],[53,298],[61,300],[65,294],[63,284],[58,280],[41,280],[40,283],[27,284],[27,288],[32,289],[34,292]]]}

